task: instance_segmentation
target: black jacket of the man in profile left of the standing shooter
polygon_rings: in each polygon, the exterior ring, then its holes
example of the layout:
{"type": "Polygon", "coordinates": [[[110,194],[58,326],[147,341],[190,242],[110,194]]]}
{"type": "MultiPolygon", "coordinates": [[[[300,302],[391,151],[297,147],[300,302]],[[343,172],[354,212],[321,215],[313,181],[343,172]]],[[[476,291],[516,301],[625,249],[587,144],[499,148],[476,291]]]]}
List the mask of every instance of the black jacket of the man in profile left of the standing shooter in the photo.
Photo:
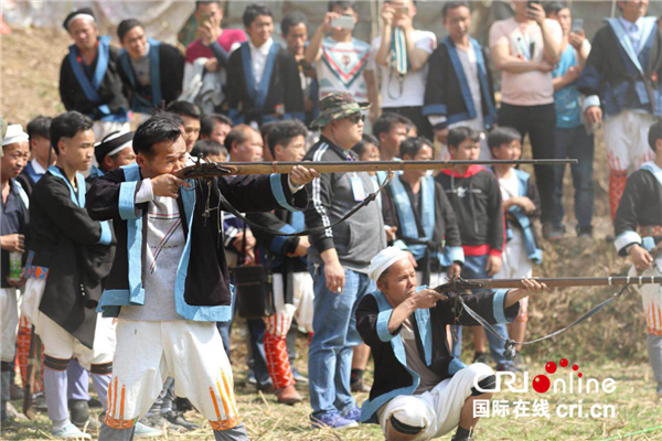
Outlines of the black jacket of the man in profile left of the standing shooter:
{"type": "Polygon", "coordinates": [[[94,301],[100,298],[102,279],[110,270],[111,249],[102,244],[102,225],[72,201],[65,181],[51,172],[34,185],[30,202],[34,255],[28,277],[31,268],[49,270],[39,309],[92,348],[97,319],[94,301]]]}

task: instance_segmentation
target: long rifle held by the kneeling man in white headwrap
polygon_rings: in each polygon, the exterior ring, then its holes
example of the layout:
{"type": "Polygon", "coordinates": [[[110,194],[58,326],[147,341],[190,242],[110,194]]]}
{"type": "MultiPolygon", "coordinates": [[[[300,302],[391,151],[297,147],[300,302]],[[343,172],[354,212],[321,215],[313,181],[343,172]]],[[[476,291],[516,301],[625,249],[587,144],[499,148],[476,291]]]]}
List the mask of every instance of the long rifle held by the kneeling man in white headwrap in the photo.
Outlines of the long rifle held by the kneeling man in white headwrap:
{"type": "MultiPolygon", "coordinates": [[[[568,277],[568,278],[534,278],[540,283],[549,288],[568,287],[612,287],[623,284],[662,283],[662,277],[633,276],[633,277],[568,277]]],[[[438,292],[448,292],[467,289],[514,289],[523,288],[522,279],[462,279],[435,288],[438,292]]]]}

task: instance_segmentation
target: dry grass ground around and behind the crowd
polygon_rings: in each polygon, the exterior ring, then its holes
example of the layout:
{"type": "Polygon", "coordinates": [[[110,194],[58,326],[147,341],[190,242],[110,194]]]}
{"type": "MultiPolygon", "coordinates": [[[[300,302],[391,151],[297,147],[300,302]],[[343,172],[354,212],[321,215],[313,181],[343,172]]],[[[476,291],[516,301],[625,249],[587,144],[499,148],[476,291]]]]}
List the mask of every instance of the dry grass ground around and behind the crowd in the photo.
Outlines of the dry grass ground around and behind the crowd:
{"type": "MultiPolygon", "coordinates": [[[[26,123],[30,118],[43,114],[55,115],[63,110],[57,93],[60,64],[70,44],[60,31],[13,31],[1,39],[1,104],[3,117],[9,121],[26,123]]],[[[545,243],[545,262],[535,269],[535,275],[545,277],[598,277],[624,275],[627,261],[619,258],[608,236],[612,235],[608,215],[608,170],[601,135],[596,149],[596,234],[594,240],[577,240],[573,233],[555,244],[545,243]]],[[[566,201],[568,230],[573,230],[572,184],[566,174],[566,201]]],[[[528,321],[528,337],[537,337],[569,324],[583,312],[609,297],[609,289],[566,289],[553,291],[532,300],[528,321]]],[[[235,326],[241,329],[241,326],[235,326]]],[[[581,366],[585,377],[611,377],[617,381],[617,391],[585,398],[585,402],[597,401],[616,406],[616,418],[611,419],[560,419],[546,418],[490,418],[481,421],[478,435],[484,440],[588,440],[608,439],[662,426],[662,406],[654,402],[652,373],[647,362],[644,322],[641,302],[631,292],[607,306],[587,323],[558,337],[525,347],[524,359],[530,364],[530,379],[543,373],[548,361],[566,357],[581,366]]],[[[300,340],[297,364],[307,372],[305,340],[300,340]]],[[[237,397],[248,433],[254,440],[376,440],[381,432],[375,426],[334,433],[309,429],[308,404],[282,407],[273,396],[255,394],[244,385],[245,344],[243,335],[235,332],[233,367],[237,397]]],[[[471,351],[466,352],[470,362],[471,351]]],[[[370,373],[369,373],[370,376],[370,373]]],[[[307,395],[303,389],[302,392],[307,395]]],[[[536,392],[526,395],[501,394],[499,399],[514,401],[519,398],[540,398],[536,392]]],[[[361,402],[366,395],[359,395],[361,402]]],[[[564,396],[549,398],[552,408],[556,404],[576,402],[581,397],[564,396]]],[[[19,404],[17,404],[19,406],[19,404]]],[[[196,415],[190,416],[195,419],[196,415]]],[[[50,427],[44,416],[35,424],[22,423],[17,431],[3,431],[2,439],[47,439],[50,427]]],[[[172,437],[171,437],[172,438],[172,437]]],[[[178,439],[212,439],[209,427],[178,439]]],[[[448,437],[446,437],[448,439],[448,437]]],[[[627,439],[662,440],[662,428],[639,433],[627,439]]]]}

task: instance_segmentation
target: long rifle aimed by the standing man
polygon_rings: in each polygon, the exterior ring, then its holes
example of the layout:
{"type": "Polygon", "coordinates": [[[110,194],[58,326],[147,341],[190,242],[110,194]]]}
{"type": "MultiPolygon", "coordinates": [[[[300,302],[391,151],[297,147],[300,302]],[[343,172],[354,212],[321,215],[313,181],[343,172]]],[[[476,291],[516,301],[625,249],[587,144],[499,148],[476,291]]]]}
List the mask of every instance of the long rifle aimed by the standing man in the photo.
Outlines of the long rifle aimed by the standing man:
{"type": "Polygon", "coordinates": [[[532,164],[532,165],[563,165],[576,164],[575,159],[523,159],[517,161],[328,161],[328,162],[200,162],[177,172],[182,179],[197,179],[237,174],[271,174],[289,173],[295,165],[306,165],[320,173],[346,172],[375,172],[375,171],[405,171],[405,170],[441,170],[452,169],[456,165],[499,165],[499,164],[532,164]]]}

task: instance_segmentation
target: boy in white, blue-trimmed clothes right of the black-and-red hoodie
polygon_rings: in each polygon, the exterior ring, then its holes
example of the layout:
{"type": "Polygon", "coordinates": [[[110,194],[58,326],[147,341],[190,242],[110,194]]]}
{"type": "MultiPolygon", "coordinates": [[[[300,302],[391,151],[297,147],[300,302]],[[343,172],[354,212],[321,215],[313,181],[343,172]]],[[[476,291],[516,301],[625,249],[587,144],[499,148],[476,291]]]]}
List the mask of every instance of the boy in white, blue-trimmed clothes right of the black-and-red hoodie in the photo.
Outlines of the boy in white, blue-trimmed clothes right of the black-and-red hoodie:
{"type": "MultiPolygon", "coordinates": [[[[510,127],[498,127],[490,133],[488,144],[496,160],[519,160],[522,157],[522,135],[510,127]]],[[[501,270],[494,279],[531,279],[533,263],[543,261],[533,222],[541,216],[541,200],[531,175],[512,164],[494,165],[501,201],[505,213],[506,243],[501,270]]],[[[528,320],[528,299],[520,301],[520,313],[509,324],[510,336],[523,342],[528,320]]],[[[484,331],[483,331],[484,332],[484,331]]],[[[517,352],[522,345],[516,346],[517,352]]]]}

